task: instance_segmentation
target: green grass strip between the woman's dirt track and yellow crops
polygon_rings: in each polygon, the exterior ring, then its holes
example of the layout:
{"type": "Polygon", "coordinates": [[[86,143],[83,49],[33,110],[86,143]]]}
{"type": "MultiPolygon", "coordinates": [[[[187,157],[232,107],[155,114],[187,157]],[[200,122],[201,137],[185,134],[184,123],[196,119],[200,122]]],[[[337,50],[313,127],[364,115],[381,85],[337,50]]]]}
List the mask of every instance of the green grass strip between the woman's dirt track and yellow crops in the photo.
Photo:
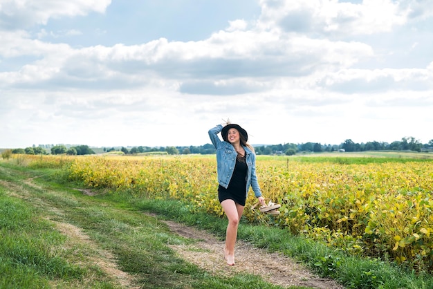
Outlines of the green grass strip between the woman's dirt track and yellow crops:
{"type": "MultiPolygon", "coordinates": [[[[119,196],[110,198],[120,201],[122,197],[119,196]]],[[[203,213],[191,214],[187,207],[178,201],[142,199],[133,200],[131,204],[166,218],[200,227],[221,237],[225,234],[227,223],[224,219],[203,213]]],[[[337,279],[347,288],[433,288],[433,277],[430,274],[416,275],[378,259],[351,257],[302,236],[292,236],[276,227],[241,222],[238,236],[258,248],[270,252],[284,252],[288,257],[306,263],[323,277],[337,279]]]]}

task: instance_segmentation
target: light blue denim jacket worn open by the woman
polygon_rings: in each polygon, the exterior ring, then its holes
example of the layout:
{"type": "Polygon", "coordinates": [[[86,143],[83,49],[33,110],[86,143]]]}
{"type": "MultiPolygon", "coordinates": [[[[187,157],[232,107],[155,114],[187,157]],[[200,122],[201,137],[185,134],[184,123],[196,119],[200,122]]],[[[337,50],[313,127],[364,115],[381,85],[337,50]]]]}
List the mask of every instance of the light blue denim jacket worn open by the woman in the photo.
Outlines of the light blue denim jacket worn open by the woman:
{"type": "MultiPolygon", "coordinates": [[[[230,179],[233,175],[234,165],[236,165],[237,152],[230,142],[221,141],[219,139],[218,133],[222,130],[223,126],[218,124],[216,127],[209,130],[209,137],[216,149],[216,171],[218,174],[218,183],[227,189],[228,183],[230,183],[230,179]]],[[[248,147],[243,147],[243,149],[245,149],[246,164],[248,167],[246,196],[248,196],[248,190],[251,186],[252,191],[258,198],[261,196],[261,191],[256,176],[256,156],[255,153],[248,149],[248,147]]]]}

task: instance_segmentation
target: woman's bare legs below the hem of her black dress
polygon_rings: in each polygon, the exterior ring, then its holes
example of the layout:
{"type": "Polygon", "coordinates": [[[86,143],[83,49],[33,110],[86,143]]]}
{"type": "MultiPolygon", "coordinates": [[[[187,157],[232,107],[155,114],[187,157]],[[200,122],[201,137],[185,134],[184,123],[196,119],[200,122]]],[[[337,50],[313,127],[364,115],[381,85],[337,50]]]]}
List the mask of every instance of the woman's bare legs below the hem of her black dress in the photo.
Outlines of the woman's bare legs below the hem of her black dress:
{"type": "Polygon", "coordinates": [[[228,265],[234,265],[234,244],[237,239],[237,227],[243,214],[243,206],[234,203],[233,200],[222,201],[221,206],[228,218],[227,231],[225,233],[224,258],[228,265]]]}

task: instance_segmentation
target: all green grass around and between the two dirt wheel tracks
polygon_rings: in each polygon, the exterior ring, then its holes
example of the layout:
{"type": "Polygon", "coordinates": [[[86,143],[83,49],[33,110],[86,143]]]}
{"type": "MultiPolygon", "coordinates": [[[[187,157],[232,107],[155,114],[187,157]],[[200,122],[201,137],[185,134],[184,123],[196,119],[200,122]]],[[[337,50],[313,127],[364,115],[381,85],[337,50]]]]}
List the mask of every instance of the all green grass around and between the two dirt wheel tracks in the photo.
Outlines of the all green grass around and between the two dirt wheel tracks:
{"type": "MultiPolygon", "coordinates": [[[[176,257],[169,244],[192,240],[172,234],[158,218],[199,227],[223,239],[227,221],[172,200],[134,198],[122,192],[85,196],[72,189],[62,170],[26,169],[0,162],[0,288],[119,288],[95,265],[86,245],[64,248],[68,238],[51,221],[79,227],[100,250],[111,252],[119,268],[142,288],[279,288],[250,274],[214,276],[176,257]],[[25,181],[33,178],[37,186],[25,181]],[[11,192],[13,194],[11,194],[11,192]],[[18,194],[21,198],[16,198],[18,194]],[[158,218],[142,214],[154,212],[158,218]]],[[[277,227],[241,221],[239,239],[270,252],[283,252],[317,274],[347,288],[433,288],[431,274],[414,274],[379,259],[351,257],[277,227]]]]}

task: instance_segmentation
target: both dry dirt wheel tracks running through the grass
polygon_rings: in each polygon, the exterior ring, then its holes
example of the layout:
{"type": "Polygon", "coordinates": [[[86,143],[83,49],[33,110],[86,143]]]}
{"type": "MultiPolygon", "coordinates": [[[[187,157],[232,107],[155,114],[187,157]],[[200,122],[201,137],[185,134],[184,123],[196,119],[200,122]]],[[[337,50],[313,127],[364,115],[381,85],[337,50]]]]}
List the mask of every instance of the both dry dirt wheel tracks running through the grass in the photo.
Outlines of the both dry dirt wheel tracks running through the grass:
{"type": "MultiPolygon", "coordinates": [[[[34,187],[35,189],[43,189],[32,179],[24,181],[25,185],[34,187]]],[[[34,205],[43,206],[57,216],[64,216],[63,212],[55,207],[50,207],[40,198],[32,196],[24,187],[16,183],[0,180],[3,187],[10,189],[8,194],[24,199],[31,199],[34,205]]],[[[90,190],[79,189],[83,194],[93,196],[90,190]]],[[[150,216],[158,217],[155,214],[150,216]]],[[[311,288],[320,289],[343,289],[344,287],[332,279],[324,279],[315,276],[308,271],[302,264],[297,263],[283,254],[269,253],[266,250],[260,250],[253,247],[249,243],[237,241],[236,245],[236,265],[228,266],[223,258],[223,241],[219,241],[216,236],[197,230],[193,227],[176,223],[173,221],[164,221],[172,232],[179,234],[185,238],[193,239],[192,244],[169,245],[170,248],[176,251],[179,257],[198,265],[203,270],[219,276],[232,276],[239,273],[255,274],[261,276],[264,280],[279,285],[282,287],[289,286],[308,286],[311,288]]],[[[98,245],[93,243],[88,235],[86,235],[80,227],[70,223],[53,221],[53,224],[59,232],[68,236],[66,248],[76,248],[80,245],[90,248],[95,252],[92,256],[88,256],[85,263],[98,265],[108,276],[113,277],[122,286],[122,288],[139,288],[134,287],[134,278],[127,272],[118,269],[113,255],[105,250],[98,248],[98,245]],[[98,256],[98,257],[96,257],[98,256]]],[[[84,265],[84,264],[83,264],[84,265]]]]}

